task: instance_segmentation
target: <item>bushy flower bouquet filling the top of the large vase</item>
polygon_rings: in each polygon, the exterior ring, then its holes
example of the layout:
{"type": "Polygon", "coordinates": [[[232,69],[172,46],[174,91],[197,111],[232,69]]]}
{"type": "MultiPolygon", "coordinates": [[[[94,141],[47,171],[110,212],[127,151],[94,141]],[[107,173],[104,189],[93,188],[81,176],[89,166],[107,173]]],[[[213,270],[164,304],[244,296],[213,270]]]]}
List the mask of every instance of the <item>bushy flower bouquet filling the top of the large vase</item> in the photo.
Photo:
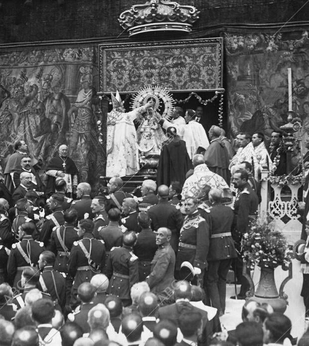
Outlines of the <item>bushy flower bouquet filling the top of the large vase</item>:
{"type": "Polygon", "coordinates": [[[287,270],[291,262],[291,252],[287,240],[274,220],[258,218],[251,223],[248,233],[242,239],[243,258],[251,269],[255,265],[276,268],[282,265],[287,270]]]}

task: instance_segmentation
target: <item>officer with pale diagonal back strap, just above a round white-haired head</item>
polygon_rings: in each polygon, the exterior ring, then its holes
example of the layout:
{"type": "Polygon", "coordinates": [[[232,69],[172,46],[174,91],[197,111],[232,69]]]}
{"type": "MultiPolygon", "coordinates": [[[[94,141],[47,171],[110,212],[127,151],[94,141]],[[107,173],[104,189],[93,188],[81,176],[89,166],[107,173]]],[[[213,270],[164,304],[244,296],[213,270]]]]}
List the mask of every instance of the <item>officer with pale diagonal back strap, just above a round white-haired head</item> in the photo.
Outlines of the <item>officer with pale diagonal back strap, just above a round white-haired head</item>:
{"type": "Polygon", "coordinates": [[[71,306],[76,306],[77,288],[82,282],[90,282],[91,278],[104,269],[105,246],[103,240],[93,237],[94,223],[89,219],[82,219],[78,223],[77,235],[82,238],[73,243],[71,249],[68,275],[74,278],[71,291],[71,306]]]}

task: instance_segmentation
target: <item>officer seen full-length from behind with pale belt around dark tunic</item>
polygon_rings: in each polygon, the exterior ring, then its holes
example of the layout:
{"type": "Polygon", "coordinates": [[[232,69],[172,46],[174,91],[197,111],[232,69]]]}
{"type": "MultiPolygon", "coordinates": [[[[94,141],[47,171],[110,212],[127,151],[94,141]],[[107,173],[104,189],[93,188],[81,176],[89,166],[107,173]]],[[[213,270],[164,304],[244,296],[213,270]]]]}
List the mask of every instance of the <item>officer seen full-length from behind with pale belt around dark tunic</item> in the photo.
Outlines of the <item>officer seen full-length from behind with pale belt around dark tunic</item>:
{"type": "Polygon", "coordinates": [[[231,234],[234,212],[222,204],[222,191],[219,189],[209,191],[209,201],[208,225],[211,238],[204,286],[211,306],[218,309],[219,316],[222,316],[225,310],[226,277],[232,259],[237,257],[231,234]]]}

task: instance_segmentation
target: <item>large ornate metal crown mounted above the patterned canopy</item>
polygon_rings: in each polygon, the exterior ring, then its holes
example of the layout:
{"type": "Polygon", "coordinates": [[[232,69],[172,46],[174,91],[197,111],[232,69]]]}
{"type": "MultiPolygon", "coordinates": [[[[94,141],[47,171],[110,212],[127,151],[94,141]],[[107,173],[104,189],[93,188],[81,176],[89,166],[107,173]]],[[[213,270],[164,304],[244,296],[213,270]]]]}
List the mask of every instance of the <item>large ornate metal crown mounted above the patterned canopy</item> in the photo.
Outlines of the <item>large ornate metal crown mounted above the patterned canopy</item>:
{"type": "Polygon", "coordinates": [[[152,31],[191,32],[199,13],[196,7],[175,1],[149,0],[122,12],[118,20],[129,36],[152,31]]]}

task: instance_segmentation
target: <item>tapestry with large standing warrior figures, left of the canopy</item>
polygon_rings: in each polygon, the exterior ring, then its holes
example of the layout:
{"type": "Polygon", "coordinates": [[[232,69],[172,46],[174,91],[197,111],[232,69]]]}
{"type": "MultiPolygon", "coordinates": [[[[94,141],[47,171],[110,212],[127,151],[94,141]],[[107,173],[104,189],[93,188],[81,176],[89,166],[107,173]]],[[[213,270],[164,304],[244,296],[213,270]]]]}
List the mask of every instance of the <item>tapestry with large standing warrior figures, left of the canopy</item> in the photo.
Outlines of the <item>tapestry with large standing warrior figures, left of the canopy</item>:
{"type": "Polygon", "coordinates": [[[105,155],[98,142],[97,47],[0,51],[0,158],[24,140],[45,164],[67,144],[81,181],[95,184],[105,155]]]}

